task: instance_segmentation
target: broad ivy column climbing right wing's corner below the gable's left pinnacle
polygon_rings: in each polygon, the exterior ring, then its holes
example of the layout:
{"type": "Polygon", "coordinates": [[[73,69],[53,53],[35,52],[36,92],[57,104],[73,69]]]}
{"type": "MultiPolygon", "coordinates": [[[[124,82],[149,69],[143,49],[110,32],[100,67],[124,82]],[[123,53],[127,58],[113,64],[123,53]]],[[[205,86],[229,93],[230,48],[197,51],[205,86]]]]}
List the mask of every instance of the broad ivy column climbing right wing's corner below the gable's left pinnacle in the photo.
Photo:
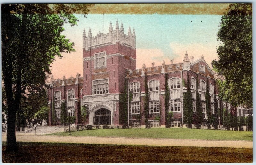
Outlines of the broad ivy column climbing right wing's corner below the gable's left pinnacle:
{"type": "Polygon", "coordinates": [[[192,128],[193,122],[193,102],[192,102],[192,92],[191,92],[191,83],[187,71],[187,83],[185,83],[187,91],[183,94],[183,118],[184,124],[188,128],[192,128]]]}

